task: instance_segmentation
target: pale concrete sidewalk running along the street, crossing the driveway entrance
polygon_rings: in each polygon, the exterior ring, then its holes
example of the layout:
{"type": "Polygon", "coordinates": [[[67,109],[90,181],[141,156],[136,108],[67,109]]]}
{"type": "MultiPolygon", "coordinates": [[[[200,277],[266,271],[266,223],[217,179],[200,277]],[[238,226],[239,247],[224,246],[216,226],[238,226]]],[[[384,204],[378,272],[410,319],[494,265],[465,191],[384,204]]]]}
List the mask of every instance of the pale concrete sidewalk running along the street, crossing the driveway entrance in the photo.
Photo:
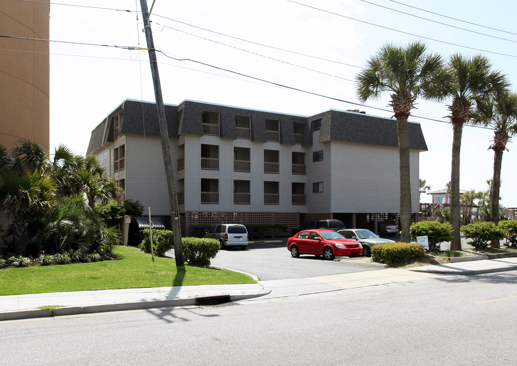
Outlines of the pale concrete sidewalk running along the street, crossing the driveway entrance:
{"type": "MultiPolygon", "coordinates": [[[[343,262],[341,262],[343,263],[343,262]]],[[[368,265],[368,263],[366,263],[368,265]]],[[[343,263],[343,265],[350,265],[343,263]]],[[[97,312],[195,306],[211,296],[239,301],[284,297],[423,280],[444,275],[477,275],[517,270],[517,258],[486,259],[410,269],[385,268],[311,278],[258,281],[253,284],[201,285],[0,296],[0,321],[97,312]],[[42,306],[63,306],[41,310],[42,306]]]]}

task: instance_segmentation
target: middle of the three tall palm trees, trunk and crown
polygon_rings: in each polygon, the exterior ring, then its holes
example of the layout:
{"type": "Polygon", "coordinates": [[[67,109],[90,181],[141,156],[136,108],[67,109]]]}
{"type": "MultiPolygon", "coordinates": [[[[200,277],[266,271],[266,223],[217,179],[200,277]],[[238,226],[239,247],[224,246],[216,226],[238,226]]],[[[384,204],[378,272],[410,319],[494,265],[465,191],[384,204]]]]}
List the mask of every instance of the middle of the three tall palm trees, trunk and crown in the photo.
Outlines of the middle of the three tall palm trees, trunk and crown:
{"type": "Polygon", "coordinates": [[[506,76],[492,70],[486,57],[470,58],[454,54],[449,58],[451,82],[442,89],[442,96],[452,97],[448,109],[453,126],[451,164],[451,250],[461,250],[460,237],[460,151],[463,125],[472,116],[476,102],[490,98],[508,87],[506,76]]]}

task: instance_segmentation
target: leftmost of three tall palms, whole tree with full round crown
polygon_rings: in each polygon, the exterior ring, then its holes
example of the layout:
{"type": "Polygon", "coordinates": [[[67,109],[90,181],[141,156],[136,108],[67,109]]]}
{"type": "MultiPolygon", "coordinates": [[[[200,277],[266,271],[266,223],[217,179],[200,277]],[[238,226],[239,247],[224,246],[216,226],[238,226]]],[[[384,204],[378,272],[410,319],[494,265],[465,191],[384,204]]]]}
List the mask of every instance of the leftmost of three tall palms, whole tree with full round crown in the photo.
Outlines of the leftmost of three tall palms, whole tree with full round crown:
{"type": "Polygon", "coordinates": [[[356,76],[356,93],[360,101],[378,99],[391,93],[389,106],[397,119],[400,158],[401,241],[409,242],[411,222],[411,181],[409,177],[409,132],[407,119],[418,97],[434,98],[435,91],[449,77],[442,58],[428,55],[423,43],[405,47],[386,44],[367,61],[367,67],[356,76]]]}

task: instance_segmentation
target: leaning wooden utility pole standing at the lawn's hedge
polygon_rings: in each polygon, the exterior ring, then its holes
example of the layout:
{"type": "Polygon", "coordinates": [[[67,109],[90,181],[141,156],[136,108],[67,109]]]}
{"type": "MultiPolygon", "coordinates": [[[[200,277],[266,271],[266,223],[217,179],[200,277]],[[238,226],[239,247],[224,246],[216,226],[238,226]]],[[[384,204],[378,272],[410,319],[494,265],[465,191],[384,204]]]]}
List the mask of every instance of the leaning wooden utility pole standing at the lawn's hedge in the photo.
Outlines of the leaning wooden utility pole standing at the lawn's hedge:
{"type": "Polygon", "coordinates": [[[169,187],[169,201],[171,205],[171,221],[174,237],[174,258],[176,259],[176,265],[183,267],[185,266],[185,263],[183,260],[183,245],[181,244],[181,228],[179,225],[178,196],[176,195],[176,184],[174,182],[174,171],[172,168],[171,159],[171,145],[169,143],[169,131],[167,130],[167,121],[165,119],[165,107],[163,106],[160,75],[158,73],[158,62],[156,61],[153,33],[151,32],[151,24],[149,22],[147,0],[140,0],[140,6],[142,7],[145,39],[147,41],[147,48],[149,49],[151,74],[153,74],[153,83],[155,86],[156,108],[158,109],[158,123],[160,125],[163,165],[165,167],[167,186],[169,187]]]}

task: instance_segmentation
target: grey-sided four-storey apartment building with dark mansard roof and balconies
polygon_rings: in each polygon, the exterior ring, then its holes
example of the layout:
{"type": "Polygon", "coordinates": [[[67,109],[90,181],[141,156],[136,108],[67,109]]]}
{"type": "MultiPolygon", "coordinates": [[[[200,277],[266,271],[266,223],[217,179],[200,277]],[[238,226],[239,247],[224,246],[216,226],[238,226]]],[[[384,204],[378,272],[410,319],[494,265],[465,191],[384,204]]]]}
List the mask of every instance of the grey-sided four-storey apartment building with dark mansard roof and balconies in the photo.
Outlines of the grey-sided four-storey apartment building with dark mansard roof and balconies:
{"type": "MultiPolygon", "coordinates": [[[[181,228],[221,222],[285,224],[334,218],[347,227],[398,221],[396,121],[330,109],[299,116],[185,100],[165,105],[181,228]]],[[[419,153],[409,123],[412,209],[419,153]]],[[[92,131],[87,154],[170,227],[156,105],[125,100],[92,131]]]]}

